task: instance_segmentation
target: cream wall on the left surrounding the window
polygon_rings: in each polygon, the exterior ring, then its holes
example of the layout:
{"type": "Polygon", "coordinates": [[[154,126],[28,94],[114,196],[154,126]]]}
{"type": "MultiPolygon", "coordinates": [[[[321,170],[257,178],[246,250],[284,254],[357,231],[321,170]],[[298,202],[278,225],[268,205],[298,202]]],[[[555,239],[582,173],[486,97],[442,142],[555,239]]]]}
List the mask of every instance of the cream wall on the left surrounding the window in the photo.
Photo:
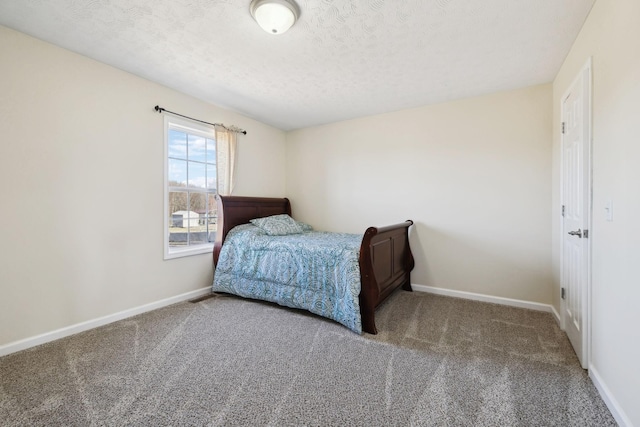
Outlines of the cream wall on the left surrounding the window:
{"type": "Polygon", "coordinates": [[[282,131],[0,27],[0,346],[210,285],[163,261],[163,118],[245,128],[237,192],[283,196],[282,131]]]}

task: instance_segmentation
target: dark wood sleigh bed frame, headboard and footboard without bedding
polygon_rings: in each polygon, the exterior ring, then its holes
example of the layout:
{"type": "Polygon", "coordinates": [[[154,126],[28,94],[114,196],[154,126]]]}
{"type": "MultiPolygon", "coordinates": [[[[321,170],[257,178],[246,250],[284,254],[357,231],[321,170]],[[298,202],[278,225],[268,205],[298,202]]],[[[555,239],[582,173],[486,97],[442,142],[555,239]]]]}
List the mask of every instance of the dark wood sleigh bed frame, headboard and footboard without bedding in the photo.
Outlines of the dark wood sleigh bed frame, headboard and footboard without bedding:
{"type": "MultiPolygon", "coordinates": [[[[271,215],[291,215],[291,204],[286,198],[218,196],[218,229],[213,248],[214,266],[229,231],[254,218],[271,215]]],[[[360,315],[362,329],[377,334],[375,310],[382,301],[399,287],[411,291],[413,255],[409,247],[409,227],[413,221],[387,227],[369,227],[360,246],[361,277],[360,315]]]]}

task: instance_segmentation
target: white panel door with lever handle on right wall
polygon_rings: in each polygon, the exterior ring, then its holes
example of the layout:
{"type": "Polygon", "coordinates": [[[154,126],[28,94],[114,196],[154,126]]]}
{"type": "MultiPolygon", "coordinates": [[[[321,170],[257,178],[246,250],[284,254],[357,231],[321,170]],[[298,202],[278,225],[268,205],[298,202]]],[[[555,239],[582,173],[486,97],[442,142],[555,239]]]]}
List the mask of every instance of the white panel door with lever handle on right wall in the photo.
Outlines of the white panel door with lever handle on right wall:
{"type": "Polygon", "coordinates": [[[591,66],[562,101],[562,315],[583,368],[589,348],[591,66]]]}

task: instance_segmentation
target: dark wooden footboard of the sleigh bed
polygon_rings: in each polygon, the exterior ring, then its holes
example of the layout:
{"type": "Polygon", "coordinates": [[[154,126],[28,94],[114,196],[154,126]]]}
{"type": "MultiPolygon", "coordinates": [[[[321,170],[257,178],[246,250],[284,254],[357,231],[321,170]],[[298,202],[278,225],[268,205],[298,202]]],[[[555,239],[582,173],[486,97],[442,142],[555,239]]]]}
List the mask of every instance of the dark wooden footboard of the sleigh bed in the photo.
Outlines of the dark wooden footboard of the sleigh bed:
{"type": "Polygon", "coordinates": [[[408,220],[388,227],[369,227],[360,246],[360,313],[362,329],[377,334],[375,310],[398,287],[411,291],[413,255],[408,220]]]}

